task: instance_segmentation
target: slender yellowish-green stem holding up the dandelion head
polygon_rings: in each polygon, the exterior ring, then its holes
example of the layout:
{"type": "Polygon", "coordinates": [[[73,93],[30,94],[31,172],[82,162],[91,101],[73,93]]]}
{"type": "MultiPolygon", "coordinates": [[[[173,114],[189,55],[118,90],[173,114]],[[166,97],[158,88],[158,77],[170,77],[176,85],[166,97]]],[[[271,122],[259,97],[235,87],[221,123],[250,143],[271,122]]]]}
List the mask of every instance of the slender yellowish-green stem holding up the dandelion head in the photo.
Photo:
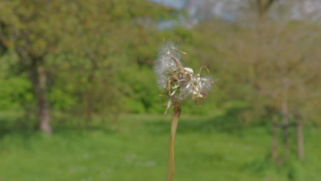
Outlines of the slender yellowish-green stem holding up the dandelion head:
{"type": "Polygon", "coordinates": [[[182,112],[180,104],[177,104],[174,107],[173,117],[171,119],[171,136],[169,137],[167,181],[173,181],[174,177],[174,141],[178,126],[178,120],[180,119],[180,112],[182,112]]]}

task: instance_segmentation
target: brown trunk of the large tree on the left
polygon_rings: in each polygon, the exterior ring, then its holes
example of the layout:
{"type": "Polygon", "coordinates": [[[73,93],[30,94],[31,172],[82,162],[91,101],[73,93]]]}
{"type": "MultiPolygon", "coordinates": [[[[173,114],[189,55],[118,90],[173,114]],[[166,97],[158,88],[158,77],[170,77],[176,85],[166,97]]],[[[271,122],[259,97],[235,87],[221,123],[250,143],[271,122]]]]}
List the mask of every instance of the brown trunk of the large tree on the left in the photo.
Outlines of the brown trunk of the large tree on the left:
{"type": "Polygon", "coordinates": [[[47,77],[43,65],[36,66],[36,73],[34,75],[34,90],[38,101],[39,129],[46,134],[51,134],[49,104],[45,94],[47,77]]]}

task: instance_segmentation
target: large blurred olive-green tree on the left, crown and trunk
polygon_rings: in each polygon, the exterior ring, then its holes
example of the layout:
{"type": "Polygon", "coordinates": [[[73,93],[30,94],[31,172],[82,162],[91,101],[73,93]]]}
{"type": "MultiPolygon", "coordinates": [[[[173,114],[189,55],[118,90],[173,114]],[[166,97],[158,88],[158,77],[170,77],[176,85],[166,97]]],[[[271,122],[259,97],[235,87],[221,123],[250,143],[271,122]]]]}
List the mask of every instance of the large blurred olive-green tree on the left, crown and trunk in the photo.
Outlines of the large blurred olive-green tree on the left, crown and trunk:
{"type": "Polygon", "coordinates": [[[151,62],[149,50],[156,46],[146,43],[154,41],[152,29],[176,12],[141,0],[1,0],[0,53],[10,49],[19,56],[16,67],[28,73],[38,101],[39,128],[50,134],[49,100],[58,105],[57,95],[77,97],[69,105],[88,118],[117,108],[119,93],[130,91],[123,90],[121,74],[151,62]]]}

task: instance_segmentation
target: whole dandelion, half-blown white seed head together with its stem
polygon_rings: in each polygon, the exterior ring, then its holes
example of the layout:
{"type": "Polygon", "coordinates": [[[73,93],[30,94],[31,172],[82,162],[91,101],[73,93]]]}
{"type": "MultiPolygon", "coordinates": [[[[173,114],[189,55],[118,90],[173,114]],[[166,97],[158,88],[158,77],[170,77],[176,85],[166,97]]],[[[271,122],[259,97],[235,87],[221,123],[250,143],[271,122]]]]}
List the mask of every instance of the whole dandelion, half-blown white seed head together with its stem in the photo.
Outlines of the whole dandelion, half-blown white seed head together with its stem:
{"type": "Polygon", "coordinates": [[[207,97],[207,93],[211,90],[215,80],[211,76],[202,77],[201,67],[199,73],[194,73],[193,69],[184,67],[180,62],[180,51],[174,43],[165,43],[163,49],[160,50],[154,71],[157,77],[158,87],[165,90],[169,98],[165,110],[165,114],[169,108],[174,107],[173,117],[171,121],[171,135],[169,138],[169,161],[167,180],[173,180],[174,176],[174,138],[180,118],[182,101],[191,97],[193,101],[199,101],[207,97]]]}

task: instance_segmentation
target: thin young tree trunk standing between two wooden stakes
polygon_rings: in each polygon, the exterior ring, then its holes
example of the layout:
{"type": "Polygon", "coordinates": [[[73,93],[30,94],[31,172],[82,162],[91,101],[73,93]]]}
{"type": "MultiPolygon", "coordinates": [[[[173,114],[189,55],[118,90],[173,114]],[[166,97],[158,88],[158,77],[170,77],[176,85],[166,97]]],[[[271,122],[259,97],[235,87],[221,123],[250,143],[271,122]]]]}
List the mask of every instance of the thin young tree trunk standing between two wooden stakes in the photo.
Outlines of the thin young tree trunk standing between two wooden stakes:
{"type": "Polygon", "coordinates": [[[287,90],[288,90],[288,80],[285,78],[283,80],[283,100],[282,100],[282,128],[283,128],[283,144],[285,149],[285,158],[287,158],[287,155],[289,154],[289,119],[288,119],[288,107],[287,107],[287,90]]]}

